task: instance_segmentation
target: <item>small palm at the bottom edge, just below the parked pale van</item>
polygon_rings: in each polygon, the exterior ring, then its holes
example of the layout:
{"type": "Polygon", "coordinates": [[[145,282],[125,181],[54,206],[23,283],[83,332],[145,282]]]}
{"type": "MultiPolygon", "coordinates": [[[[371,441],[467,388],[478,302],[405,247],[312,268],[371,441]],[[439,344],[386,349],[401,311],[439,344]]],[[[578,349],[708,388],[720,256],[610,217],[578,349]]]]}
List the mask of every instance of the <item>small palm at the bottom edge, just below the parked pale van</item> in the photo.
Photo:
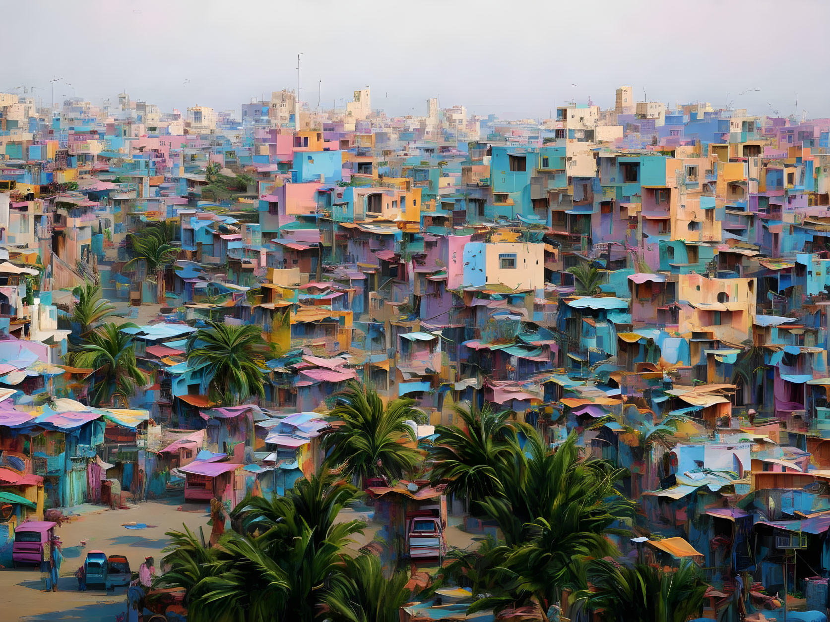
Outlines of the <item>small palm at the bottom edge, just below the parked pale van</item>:
{"type": "Polygon", "coordinates": [[[336,584],[323,598],[325,618],[334,622],[398,622],[401,607],[411,595],[407,573],[387,579],[378,557],[347,558],[346,581],[336,584]]]}

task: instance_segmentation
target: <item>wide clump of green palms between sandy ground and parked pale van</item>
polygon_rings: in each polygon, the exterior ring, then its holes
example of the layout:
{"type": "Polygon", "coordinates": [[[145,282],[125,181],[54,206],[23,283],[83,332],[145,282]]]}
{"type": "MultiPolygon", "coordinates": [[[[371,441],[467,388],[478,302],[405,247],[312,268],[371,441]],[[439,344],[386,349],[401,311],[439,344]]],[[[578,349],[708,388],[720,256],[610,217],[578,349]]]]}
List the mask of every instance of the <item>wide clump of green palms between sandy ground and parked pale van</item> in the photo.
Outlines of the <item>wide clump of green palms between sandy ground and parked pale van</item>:
{"type": "Polygon", "coordinates": [[[171,532],[158,587],[187,590],[188,620],[393,622],[408,600],[407,576],[385,579],[378,558],[346,548],[365,524],[336,522],[357,491],[328,471],[301,479],[285,497],[248,496],[233,532],[216,547],[185,527],[171,532]]]}

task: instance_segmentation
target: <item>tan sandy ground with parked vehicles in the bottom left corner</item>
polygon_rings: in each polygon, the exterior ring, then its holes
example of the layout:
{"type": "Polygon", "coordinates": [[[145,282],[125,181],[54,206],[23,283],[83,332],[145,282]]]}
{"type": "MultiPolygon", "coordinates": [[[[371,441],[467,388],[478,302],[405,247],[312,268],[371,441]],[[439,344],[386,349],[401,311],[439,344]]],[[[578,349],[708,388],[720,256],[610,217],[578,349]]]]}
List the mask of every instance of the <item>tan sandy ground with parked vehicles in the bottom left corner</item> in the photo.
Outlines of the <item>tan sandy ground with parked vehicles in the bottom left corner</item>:
{"type": "Polygon", "coordinates": [[[182,524],[198,532],[203,527],[207,538],[209,515],[207,506],[188,503],[178,511],[181,502],[153,501],[131,506],[129,510],[110,511],[100,506],[71,508],[78,517],[57,529],[63,543],[64,561],[57,592],[41,593],[40,571],[0,571],[0,620],[88,620],[114,622],[116,615],[126,610],[125,588],[113,592],[104,590],[77,591],[75,571],[83,563],[86,552],[100,550],[107,555],[124,555],[129,566],[138,570],[144,556],[158,560],[167,546],[164,535],[182,524]],[[143,522],[145,529],[127,529],[122,523],[143,522]],[[156,525],[157,527],[149,527],[156,525]],[[81,544],[86,541],[86,545],[81,544]]]}

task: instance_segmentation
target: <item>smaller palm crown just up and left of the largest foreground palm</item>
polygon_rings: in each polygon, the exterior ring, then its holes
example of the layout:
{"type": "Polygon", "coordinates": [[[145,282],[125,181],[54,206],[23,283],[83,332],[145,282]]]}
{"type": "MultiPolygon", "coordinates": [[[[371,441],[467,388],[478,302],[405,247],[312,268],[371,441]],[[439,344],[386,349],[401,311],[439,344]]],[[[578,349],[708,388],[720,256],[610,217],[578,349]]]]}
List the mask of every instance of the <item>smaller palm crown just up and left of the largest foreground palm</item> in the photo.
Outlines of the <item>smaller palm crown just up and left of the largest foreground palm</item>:
{"type": "Polygon", "coordinates": [[[490,403],[457,405],[453,409],[462,425],[437,425],[438,435],[429,459],[433,484],[447,482],[445,492],[466,498],[471,513],[481,514],[479,502],[503,493],[500,471],[512,463],[518,451],[510,411],[495,411],[490,403]]]}

